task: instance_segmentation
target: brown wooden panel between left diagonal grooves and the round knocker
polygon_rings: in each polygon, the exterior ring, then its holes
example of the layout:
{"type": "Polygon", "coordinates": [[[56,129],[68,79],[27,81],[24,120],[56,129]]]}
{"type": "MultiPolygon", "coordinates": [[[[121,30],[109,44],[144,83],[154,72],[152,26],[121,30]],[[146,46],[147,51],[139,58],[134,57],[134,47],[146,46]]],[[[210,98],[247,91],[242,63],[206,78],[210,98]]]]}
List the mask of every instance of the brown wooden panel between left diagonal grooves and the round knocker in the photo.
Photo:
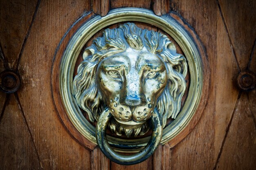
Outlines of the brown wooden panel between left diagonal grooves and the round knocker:
{"type": "Polygon", "coordinates": [[[67,132],[52,99],[55,50],[68,28],[86,11],[88,1],[42,1],[21,56],[18,91],[44,169],[91,169],[91,152],[67,132]]]}

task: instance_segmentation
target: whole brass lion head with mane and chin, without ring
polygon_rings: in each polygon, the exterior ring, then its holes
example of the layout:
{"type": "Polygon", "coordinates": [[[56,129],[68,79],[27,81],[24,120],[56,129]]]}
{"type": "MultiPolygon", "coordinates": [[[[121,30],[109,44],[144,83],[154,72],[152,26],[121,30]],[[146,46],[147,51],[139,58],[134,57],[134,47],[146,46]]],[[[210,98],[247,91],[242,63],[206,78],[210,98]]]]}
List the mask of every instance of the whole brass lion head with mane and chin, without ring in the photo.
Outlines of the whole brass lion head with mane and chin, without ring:
{"type": "Polygon", "coordinates": [[[85,49],[74,77],[74,97],[90,121],[108,108],[112,132],[143,135],[155,107],[163,127],[169,117],[176,118],[186,73],[185,57],[166,35],[126,23],[106,29],[85,49]]]}

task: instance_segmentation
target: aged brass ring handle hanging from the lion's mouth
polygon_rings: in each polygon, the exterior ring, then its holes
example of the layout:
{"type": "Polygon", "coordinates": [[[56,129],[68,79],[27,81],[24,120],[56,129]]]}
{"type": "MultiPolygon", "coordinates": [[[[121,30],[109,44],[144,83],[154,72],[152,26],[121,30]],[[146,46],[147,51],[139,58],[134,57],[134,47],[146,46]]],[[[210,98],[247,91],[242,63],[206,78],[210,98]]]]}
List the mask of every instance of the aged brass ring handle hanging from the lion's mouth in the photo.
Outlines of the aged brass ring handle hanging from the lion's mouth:
{"type": "Polygon", "coordinates": [[[108,109],[104,110],[99,116],[96,126],[97,144],[106,157],[121,165],[133,165],[145,161],[154,153],[155,149],[161,142],[163,133],[162,119],[157,108],[154,109],[154,112],[150,117],[153,125],[152,136],[147,146],[134,155],[121,155],[118,152],[115,152],[115,150],[113,150],[108,144],[106,128],[111,117],[112,114],[110,111],[108,109]]]}

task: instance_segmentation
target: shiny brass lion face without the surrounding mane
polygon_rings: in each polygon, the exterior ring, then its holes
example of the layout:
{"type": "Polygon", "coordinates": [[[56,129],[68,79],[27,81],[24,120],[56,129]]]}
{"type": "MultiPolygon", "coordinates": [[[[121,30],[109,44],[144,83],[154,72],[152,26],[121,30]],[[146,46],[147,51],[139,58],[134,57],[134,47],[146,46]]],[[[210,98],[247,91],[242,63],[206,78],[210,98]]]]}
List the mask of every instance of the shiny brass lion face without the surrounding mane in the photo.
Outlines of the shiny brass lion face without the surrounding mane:
{"type": "Polygon", "coordinates": [[[104,103],[126,128],[142,126],[151,117],[167,83],[164,62],[146,49],[128,48],[105,58],[97,77],[104,103]]]}

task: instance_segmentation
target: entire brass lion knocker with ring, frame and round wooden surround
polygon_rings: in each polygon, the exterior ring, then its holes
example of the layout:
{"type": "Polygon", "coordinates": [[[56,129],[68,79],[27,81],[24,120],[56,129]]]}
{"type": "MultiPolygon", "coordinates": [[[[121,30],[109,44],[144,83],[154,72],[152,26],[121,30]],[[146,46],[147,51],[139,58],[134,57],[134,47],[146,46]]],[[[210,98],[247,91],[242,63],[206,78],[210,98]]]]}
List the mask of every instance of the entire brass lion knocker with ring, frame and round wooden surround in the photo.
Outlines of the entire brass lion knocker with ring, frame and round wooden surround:
{"type": "Polygon", "coordinates": [[[175,146],[200,119],[209,91],[207,58],[175,14],[121,8],[91,15],[75,22],[56,50],[57,113],[83,146],[98,145],[119,164],[140,163],[159,144],[175,146]],[[155,31],[140,28],[150,25],[155,31]]]}

